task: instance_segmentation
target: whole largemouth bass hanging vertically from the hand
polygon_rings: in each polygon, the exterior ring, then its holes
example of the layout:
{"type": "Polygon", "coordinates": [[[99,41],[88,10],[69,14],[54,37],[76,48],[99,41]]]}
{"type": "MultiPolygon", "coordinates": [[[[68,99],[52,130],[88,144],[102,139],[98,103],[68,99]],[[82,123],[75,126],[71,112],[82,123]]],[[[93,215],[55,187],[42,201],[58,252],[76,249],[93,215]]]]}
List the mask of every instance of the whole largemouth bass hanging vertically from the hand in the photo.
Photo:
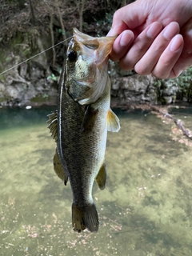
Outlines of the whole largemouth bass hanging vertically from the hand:
{"type": "Polygon", "coordinates": [[[74,29],[66,52],[58,91],[58,111],[48,126],[57,142],[54,170],[73,193],[72,226],[98,231],[98,212],[92,198],[94,180],[106,187],[107,130],[120,129],[110,109],[107,63],[115,38],[93,38],[74,29]]]}

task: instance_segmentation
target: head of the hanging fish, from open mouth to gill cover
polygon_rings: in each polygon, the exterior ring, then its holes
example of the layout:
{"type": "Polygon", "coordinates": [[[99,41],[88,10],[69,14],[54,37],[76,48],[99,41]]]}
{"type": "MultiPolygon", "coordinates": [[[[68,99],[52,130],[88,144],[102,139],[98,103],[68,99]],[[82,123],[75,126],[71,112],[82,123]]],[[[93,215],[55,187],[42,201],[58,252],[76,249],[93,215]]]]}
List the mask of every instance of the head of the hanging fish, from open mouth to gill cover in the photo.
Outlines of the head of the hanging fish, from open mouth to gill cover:
{"type": "Polygon", "coordinates": [[[108,84],[107,64],[115,37],[94,38],[74,29],[66,59],[66,90],[80,105],[98,100],[108,84]]]}

